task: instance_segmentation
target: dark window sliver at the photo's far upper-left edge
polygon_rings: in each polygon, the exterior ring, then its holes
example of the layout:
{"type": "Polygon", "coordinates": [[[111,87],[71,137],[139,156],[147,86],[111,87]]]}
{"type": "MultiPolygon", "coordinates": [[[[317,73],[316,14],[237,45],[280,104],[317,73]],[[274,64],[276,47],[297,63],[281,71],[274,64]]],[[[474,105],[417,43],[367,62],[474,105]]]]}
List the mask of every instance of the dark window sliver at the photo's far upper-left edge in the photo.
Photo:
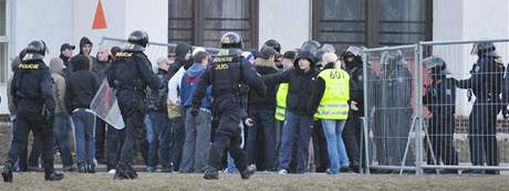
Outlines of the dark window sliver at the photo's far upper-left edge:
{"type": "Polygon", "coordinates": [[[6,83],[10,68],[9,63],[9,38],[8,34],[8,0],[0,0],[0,83],[6,83]]]}

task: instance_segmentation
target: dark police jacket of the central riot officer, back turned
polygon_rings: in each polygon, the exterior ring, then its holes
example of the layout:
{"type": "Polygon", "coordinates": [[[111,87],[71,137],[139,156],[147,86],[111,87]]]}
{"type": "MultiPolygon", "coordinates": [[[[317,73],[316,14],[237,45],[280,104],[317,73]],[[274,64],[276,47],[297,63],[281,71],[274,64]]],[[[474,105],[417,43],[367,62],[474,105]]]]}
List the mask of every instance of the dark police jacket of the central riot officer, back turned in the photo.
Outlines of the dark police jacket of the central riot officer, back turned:
{"type": "MultiPolygon", "coordinates": [[[[254,68],[240,56],[241,50],[222,50],[214,59],[214,64],[209,65],[200,76],[198,86],[193,96],[193,107],[201,106],[206,88],[212,85],[214,102],[222,98],[235,97],[239,100],[239,95],[247,92],[242,91],[240,84],[247,84],[249,89],[259,95],[267,94],[267,87],[254,68]]],[[[240,100],[239,100],[240,103],[240,100]]]]}

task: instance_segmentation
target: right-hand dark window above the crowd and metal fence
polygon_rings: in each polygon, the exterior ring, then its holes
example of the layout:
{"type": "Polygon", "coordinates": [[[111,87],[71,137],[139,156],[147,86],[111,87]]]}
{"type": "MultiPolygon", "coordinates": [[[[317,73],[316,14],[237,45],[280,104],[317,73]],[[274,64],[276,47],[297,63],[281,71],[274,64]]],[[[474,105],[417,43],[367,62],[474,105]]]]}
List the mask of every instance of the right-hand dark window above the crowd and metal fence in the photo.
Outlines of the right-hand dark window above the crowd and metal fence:
{"type": "Polygon", "coordinates": [[[429,0],[313,0],[313,39],[339,51],[432,39],[429,0]]]}

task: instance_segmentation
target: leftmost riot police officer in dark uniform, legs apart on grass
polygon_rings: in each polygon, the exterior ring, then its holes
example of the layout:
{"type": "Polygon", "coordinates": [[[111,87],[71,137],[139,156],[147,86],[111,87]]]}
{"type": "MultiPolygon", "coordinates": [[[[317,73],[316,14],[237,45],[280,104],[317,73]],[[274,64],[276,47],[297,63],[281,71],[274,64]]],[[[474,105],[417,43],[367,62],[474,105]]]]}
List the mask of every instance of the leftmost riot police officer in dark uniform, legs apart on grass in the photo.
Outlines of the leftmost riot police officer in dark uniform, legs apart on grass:
{"type": "Polygon", "coordinates": [[[12,149],[9,151],[2,177],[3,181],[12,182],[12,166],[14,159],[27,147],[30,130],[42,140],[42,158],[44,162],[44,179],[58,181],[63,173],[53,168],[53,81],[50,68],[44,64],[46,45],[43,41],[32,41],[25,49],[21,64],[14,72],[10,93],[18,108],[18,117],[12,134],[12,149]]]}

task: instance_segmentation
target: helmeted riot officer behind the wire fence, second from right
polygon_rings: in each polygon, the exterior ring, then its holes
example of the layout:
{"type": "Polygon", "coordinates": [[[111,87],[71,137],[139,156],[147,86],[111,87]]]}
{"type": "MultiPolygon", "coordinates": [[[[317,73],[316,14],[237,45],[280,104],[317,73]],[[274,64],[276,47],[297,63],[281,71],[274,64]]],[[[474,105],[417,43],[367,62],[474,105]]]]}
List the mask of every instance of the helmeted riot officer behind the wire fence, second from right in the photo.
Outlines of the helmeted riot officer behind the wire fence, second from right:
{"type": "MultiPolygon", "coordinates": [[[[447,77],[448,72],[443,59],[430,56],[425,59],[423,64],[433,79],[423,97],[423,104],[430,112],[427,135],[432,145],[427,148],[427,163],[437,165],[442,159],[444,165],[457,166],[458,153],[453,142],[456,81],[447,77]]],[[[446,169],[442,173],[457,173],[457,170],[446,169]]]]}

